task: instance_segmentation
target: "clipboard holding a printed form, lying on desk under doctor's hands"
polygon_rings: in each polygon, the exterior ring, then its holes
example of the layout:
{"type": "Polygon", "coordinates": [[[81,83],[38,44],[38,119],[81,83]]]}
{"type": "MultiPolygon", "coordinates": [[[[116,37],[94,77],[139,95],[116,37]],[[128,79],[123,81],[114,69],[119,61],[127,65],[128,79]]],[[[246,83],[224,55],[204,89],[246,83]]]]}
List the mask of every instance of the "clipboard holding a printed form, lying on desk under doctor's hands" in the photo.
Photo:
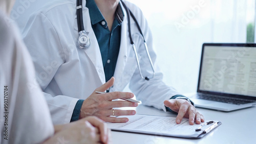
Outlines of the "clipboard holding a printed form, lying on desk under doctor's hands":
{"type": "Polygon", "coordinates": [[[200,125],[189,125],[188,118],[183,118],[180,124],[176,124],[176,117],[144,114],[117,117],[127,117],[129,122],[107,123],[112,131],[188,139],[202,138],[221,125],[219,121],[205,121],[200,125]]]}

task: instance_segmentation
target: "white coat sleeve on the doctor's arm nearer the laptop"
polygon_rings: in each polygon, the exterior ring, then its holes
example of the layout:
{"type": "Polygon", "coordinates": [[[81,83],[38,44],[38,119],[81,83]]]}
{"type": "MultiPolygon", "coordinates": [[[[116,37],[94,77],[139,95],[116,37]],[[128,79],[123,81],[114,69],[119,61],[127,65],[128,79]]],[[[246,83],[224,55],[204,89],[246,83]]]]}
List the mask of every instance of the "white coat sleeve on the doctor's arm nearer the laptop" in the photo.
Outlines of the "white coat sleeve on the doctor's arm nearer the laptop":
{"type": "MultiPolygon", "coordinates": [[[[148,23],[143,16],[141,10],[130,3],[127,3],[128,7],[131,9],[136,19],[139,22],[140,28],[144,35],[145,41],[147,43],[148,52],[152,58],[152,62],[155,68],[155,76],[153,79],[149,81],[143,80],[140,77],[139,69],[135,70],[135,73],[132,76],[130,82],[130,89],[134,92],[138,100],[142,101],[142,104],[147,106],[153,106],[157,109],[162,109],[166,111],[166,108],[163,104],[165,100],[169,100],[174,95],[180,94],[176,91],[175,88],[171,86],[167,86],[163,80],[163,74],[161,73],[160,68],[156,62],[156,53],[153,49],[153,37],[150,28],[148,27],[148,23]]],[[[143,73],[143,76],[151,77],[153,75],[151,64],[148,61],[144,45],[138,45],[138,55],[140,55],[142,62],[140,67],[143,73]]]]}

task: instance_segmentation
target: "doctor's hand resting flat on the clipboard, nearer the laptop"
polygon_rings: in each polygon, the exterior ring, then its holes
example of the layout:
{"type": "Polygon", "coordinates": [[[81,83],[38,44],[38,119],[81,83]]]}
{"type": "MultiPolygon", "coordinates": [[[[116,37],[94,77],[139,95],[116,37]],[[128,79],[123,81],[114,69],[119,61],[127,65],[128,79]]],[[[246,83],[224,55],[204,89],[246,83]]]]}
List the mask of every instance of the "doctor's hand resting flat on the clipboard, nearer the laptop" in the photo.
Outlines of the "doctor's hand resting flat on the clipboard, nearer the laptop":
{"type": "Polygon", "coordinates": [[[164,101],[164,105],[178,113],[176,123],[180,124],[183,117],[189,118],[189,124],[194,125],[204,122],[204,116],[197,109],[184,99],[170,99],[164,101]]]}

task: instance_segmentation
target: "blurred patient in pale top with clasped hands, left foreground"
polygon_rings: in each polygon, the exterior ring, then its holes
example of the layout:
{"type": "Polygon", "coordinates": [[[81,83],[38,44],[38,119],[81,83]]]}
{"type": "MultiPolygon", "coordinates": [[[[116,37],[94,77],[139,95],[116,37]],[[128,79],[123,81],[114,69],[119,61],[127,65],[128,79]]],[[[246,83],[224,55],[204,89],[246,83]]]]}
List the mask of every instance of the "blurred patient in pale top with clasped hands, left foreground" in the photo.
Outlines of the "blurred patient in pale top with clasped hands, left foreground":
{"type": "Polygon", "coordinates": [[[109,143],[110,132],[97,117],[53,126],[30,55],[6,15],[13,3],[0,0],[1,143],[109,143]]]}

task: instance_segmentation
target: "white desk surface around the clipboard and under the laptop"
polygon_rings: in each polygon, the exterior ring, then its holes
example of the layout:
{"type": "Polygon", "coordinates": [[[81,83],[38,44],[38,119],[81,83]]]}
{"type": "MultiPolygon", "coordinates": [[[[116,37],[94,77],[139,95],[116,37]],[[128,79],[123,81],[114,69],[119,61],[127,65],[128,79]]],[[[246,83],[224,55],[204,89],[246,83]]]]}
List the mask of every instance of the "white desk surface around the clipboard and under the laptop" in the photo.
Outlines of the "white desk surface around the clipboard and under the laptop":
{"type": "MultiPolygon", "coordinates": [[[[222,122],[218,128],[201,139],[184,139],[145,134],[133,134],[112,131],[113,143],[256,143],[256,107],[231,112],[222,112],[197,108],[206,120],[222,122]]],[[[139,105],[138,114],[175,116],[153,107],[139,105]]]]}

